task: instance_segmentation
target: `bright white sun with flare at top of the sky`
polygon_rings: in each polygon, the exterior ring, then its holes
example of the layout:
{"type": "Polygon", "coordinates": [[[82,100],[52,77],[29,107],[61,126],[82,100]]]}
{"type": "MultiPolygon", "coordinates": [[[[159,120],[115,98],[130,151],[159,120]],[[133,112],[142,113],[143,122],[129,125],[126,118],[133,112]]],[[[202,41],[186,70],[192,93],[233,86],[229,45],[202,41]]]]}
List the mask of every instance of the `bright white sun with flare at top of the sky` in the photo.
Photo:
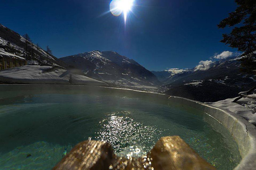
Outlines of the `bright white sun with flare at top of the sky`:
{"type": "Polygon", "coordinates": [[[110,3],[110,12],[114,16],[119,16],[121,13],[124,14],[126,21],[127,13],[131,11],[134,0],[112,0],[110,3]]]}

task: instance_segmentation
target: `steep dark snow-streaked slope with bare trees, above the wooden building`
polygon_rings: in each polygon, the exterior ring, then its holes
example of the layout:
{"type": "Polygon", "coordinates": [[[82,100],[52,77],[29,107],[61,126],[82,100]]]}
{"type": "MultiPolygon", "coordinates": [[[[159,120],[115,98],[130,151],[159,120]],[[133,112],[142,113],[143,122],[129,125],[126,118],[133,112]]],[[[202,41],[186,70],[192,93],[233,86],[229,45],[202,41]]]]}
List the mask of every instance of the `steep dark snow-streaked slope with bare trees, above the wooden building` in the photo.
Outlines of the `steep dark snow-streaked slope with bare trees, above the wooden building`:
{"type": "Polygon", "coordinates": [[[18,33],[0,24],[0,55],[23,57],[28,64],[67,65],[52,54],[47,54],[42,48],[27,41],[18,33]],[[27,49],[27,56],[26,56],[27,49]]]}

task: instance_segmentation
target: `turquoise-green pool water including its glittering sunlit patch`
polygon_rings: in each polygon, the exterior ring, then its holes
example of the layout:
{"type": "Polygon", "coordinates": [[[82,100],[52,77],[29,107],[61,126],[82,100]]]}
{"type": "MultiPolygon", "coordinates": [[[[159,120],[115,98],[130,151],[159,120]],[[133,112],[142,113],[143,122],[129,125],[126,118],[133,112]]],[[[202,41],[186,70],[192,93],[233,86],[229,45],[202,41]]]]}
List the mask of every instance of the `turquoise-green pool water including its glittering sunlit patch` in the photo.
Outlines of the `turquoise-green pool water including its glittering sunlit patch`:
{"type": "MultiPolygon", "coordinates": [[[[115,152],[150,151],[179,135],[219,170],[240,162],[236,142],[200,111],[127,96],[36,94],[0,99],[0,169],[51,169],[76,143],[108,141],[115,152]]],[[[215,122],[217,123],[217,122],[215,122]]],[[[218,123],[217,123],[218,124],[218,123]]]]}

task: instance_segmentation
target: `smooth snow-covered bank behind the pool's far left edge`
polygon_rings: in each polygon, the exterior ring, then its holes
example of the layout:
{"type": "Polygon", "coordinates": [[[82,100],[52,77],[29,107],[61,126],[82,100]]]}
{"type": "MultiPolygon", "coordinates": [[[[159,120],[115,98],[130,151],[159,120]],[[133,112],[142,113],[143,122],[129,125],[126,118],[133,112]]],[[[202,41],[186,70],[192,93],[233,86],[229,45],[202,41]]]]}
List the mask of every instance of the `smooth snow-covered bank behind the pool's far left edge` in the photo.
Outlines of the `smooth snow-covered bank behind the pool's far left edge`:
{"type": "MultiPolygon", "coordinates": [[[[27,65],[0,71],[0,81],[21,84],[71,84],[70,71],[54,66],[27,65]]],[[[106,86],[107,84],[84,75],[72,73],[72,84],[106,86]]]]}

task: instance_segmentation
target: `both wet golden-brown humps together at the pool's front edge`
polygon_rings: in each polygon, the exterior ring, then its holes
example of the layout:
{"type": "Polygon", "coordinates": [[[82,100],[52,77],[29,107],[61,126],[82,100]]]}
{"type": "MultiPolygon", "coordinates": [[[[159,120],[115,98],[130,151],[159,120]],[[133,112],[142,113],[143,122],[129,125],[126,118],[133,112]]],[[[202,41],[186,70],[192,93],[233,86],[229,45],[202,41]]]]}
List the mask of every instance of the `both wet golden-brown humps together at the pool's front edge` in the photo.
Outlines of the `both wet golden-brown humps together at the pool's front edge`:
{"type": "Polygon", "coordinates": [[[118,157],[107,142],[77,144],[53,170],[216,170],[179,136],[160,138],[141,157],[118,157]]]}

